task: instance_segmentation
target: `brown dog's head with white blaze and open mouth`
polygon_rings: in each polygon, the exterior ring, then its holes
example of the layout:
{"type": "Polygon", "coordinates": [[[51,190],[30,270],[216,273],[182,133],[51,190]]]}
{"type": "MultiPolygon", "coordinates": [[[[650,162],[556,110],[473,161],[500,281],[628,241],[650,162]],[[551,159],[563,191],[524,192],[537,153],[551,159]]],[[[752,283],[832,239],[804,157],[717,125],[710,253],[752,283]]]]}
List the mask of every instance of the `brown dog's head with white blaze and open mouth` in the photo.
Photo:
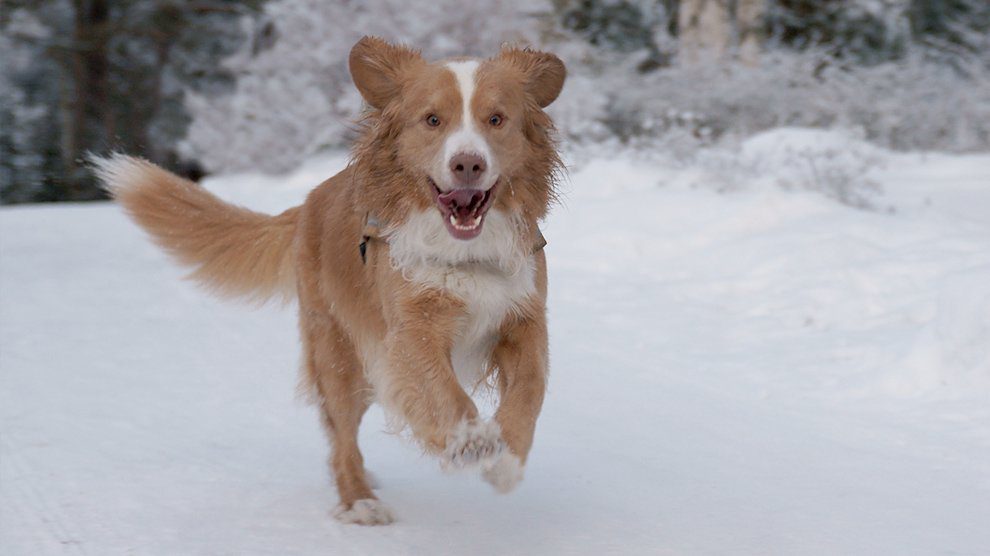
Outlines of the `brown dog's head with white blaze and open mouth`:
{"type": "Polygon", "coordinates": [[[365,37],[350,69],[372,109],[359,156],[388,189],[383,202],[392,210],[432,205],[461,240],[481,234],[492,208],[532,219],[546,213],[560,161],[543,108],[566,73],[556,56],[508,48],[486,60],[429,63],[365,37]]]}

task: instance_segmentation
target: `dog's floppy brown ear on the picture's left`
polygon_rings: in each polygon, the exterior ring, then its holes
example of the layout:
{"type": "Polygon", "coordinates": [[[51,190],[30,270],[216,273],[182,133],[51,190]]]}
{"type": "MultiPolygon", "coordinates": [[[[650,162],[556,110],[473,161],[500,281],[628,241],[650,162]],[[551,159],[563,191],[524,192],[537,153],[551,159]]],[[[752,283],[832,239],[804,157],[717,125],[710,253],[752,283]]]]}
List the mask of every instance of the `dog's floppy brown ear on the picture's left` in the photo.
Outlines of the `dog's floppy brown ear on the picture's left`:
{"type": "Polygon", "coordinates": [[[415,50],[367,36],[354,45],[348,60],[351,78],[361,96],[378,109],[399,94],[405,73],[423,63],[423,57],[415,50]]]}

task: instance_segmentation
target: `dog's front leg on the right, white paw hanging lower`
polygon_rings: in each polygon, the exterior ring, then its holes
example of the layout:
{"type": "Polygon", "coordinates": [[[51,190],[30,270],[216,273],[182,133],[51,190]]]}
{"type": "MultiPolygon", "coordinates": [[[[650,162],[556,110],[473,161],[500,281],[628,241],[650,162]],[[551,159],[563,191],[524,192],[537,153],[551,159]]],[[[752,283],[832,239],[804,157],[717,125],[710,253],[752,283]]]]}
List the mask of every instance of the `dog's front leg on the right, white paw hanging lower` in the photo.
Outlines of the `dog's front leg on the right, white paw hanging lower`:
{"type": "Polygon", "coordinates": [[[493,356],[500,393],[495,421],[508,449],[485,466],[483,477],[495,490],[506,493],[522,480],[546,392],[547,325],[542,307],[531,308],[507,325],[493,356]]]}

